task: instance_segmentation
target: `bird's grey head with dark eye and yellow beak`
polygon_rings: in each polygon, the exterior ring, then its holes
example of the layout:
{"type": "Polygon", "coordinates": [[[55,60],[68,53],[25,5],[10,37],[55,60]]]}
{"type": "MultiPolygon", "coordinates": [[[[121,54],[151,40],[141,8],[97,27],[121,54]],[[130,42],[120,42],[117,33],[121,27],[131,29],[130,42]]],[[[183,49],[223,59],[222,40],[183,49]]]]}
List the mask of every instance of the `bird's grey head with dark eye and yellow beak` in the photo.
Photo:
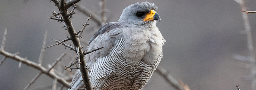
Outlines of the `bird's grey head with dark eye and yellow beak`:
{"type": "Polygon", "coordinates": [[[156,24],[155,20],[160,21],[160,16],[156,11],[157,7],[154,3],[141,2],[131,4],[123,9],[118,23],[129,27],[152,26],[156,24]]]}

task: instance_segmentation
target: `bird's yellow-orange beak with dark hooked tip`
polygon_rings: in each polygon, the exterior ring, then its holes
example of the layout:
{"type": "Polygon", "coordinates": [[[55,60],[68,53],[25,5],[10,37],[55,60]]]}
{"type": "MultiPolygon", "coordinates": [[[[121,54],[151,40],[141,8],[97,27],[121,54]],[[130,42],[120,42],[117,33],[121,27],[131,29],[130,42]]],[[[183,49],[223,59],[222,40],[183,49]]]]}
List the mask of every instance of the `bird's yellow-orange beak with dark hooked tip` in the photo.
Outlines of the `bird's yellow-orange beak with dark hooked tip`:
{"type": "Polygon", "coordinates": [[[151,21],[151,20],[159,20],[160,22],[160,16],[155,12],[155,10],[150,10],[150,13],[147,13],[145,16],[145,19],[143,21],[151,21]]]}

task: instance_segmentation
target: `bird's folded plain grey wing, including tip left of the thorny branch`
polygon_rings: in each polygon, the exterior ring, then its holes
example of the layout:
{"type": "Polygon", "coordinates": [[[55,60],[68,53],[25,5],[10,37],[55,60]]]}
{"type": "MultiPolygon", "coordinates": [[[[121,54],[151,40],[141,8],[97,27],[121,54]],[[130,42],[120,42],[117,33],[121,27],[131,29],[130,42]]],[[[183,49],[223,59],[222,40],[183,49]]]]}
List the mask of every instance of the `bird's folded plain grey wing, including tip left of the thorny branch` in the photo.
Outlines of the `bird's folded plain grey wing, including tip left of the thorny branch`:
{"type": "MultiPolygon", "coordinates": [[[[123,28],[115,22],[110,22],[102,26],[91,38],[86,52],[101,46],[104,48],[85,55],[86,65],[90,66],[95,61],[95,58],[107,56],[112,46],[114,46],[118,38],[122,35],[123,28]]],[[[72,79],[71,88],[83,88],[83,82],[80,80],[82,80],[82,75],[80,70],[77,70],[72,79]]]]}

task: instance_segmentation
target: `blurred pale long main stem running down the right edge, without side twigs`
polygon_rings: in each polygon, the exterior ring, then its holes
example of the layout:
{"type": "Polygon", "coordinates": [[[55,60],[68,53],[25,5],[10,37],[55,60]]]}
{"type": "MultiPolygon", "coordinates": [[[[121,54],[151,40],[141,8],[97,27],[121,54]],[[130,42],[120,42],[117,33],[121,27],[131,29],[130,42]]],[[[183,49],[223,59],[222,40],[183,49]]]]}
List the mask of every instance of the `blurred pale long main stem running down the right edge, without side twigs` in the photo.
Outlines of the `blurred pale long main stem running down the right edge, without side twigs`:
{"type": "MultiPolygon", "coordinates": [[[[240,4],[241,11],[246,11],[245,7],[245,2],[244,0],[235,0],[240,4]]],[[[252,77],[252,82],[251,82],[251,87],[252,90],[256,89],[256,61],[255,61],[255,56],[254,56],[254,49],[253,49],[253,41],[252,41],[252,35],[251,35],[251,27],[250,27],[250,22],[248,19],[248,15],[246,13],[242,13],[242,17],[244,19],[244,27],[245,27],[245,32],[247,35],[247,45],[250,53],[250,63],[251,63],[251,77],[252,77]]]]}

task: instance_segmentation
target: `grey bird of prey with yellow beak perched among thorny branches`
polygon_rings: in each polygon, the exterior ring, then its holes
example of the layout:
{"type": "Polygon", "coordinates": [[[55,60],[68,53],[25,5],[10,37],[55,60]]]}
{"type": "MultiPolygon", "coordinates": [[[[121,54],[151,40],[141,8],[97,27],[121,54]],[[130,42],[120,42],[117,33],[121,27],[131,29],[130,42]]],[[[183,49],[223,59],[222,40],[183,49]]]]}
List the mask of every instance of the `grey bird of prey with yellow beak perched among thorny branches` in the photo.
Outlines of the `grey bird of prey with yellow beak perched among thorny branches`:
{"type": "MultiPolygon", "coordinates": [[[[103,25],[90,39],[85,55],[93,90],[140,90],[162,58],[166,42],[156,27],[160,16],[151,2],[137,2],[123,9],[118,22],[103,25]],[[99,89],[98,89],[99,90],[99,89]]],[[[77,70],[69,89],[84,88],[77,70]]]]}

